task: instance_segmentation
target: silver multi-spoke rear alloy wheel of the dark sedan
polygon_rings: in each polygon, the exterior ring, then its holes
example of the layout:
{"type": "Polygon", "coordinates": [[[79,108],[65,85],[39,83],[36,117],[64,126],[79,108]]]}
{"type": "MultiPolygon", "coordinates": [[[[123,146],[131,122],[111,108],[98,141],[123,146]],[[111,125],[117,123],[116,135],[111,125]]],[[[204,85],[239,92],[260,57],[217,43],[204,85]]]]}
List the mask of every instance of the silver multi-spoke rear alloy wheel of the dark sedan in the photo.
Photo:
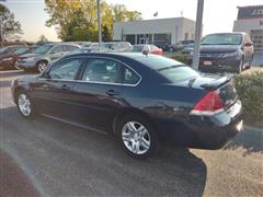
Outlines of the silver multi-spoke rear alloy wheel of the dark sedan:
{"type": "Polygon", "coordinates": [[[122,139],[125,147],[134,154],[145,154],[150,148],[150,134],[138,121],[128,121],[123,126],[122,139]]]}

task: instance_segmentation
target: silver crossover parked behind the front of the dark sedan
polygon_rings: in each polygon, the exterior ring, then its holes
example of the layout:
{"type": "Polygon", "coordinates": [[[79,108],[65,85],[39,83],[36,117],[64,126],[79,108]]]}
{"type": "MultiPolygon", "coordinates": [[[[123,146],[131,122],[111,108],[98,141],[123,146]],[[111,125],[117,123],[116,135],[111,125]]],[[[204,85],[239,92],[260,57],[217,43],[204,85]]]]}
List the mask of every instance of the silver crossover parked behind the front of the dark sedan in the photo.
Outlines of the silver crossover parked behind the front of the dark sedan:
{"type": "Polygon", "coordinates": [[[49,43],[42,45],[32,54],[20,56],[18,60],[19,68],[25,71],[35,70],[43,72],[50,61],[61,58],[77,48],[80,48],[80,46],[69,43],[49,43]]]}

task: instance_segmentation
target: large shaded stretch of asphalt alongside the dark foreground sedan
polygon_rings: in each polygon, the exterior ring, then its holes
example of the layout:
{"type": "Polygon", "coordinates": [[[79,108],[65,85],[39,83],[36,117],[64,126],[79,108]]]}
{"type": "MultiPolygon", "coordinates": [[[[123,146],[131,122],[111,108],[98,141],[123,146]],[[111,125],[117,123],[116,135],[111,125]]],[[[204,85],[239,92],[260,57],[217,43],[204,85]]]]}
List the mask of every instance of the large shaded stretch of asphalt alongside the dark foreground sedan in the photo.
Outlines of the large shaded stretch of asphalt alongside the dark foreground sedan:
{"type": "Polygon", "coordinates": [[[203,196],[206,164],[184,149],[138,161],[107,135],[1,109],[3,149],[48,196],[203,196]]]}

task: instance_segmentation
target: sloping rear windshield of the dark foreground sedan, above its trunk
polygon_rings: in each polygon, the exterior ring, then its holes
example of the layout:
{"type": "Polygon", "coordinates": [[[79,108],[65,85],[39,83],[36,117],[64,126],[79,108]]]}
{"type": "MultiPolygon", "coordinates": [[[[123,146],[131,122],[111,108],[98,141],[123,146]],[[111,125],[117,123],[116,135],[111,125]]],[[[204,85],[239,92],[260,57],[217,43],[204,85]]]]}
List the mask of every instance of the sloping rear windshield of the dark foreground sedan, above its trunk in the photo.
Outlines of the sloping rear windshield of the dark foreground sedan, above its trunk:
{"type": "Polygon", "coordinates": [[[198,77],[198,72],[186,66],[175,66],[159,69],[158,72],[171,83],[198,77]]]}

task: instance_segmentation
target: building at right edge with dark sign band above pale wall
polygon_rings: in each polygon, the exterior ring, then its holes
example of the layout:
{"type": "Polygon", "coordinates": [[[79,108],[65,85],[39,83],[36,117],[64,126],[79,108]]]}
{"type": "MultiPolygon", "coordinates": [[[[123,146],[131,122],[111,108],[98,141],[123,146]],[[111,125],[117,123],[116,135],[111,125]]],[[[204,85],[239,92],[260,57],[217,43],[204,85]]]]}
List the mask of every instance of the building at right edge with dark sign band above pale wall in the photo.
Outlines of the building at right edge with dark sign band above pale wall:
{"type": "Polygon", "coordinates": [[[238,7],[238,19],[233,32],[250,34],[258,53],[263,53],[263,5],[238,7]]]}

